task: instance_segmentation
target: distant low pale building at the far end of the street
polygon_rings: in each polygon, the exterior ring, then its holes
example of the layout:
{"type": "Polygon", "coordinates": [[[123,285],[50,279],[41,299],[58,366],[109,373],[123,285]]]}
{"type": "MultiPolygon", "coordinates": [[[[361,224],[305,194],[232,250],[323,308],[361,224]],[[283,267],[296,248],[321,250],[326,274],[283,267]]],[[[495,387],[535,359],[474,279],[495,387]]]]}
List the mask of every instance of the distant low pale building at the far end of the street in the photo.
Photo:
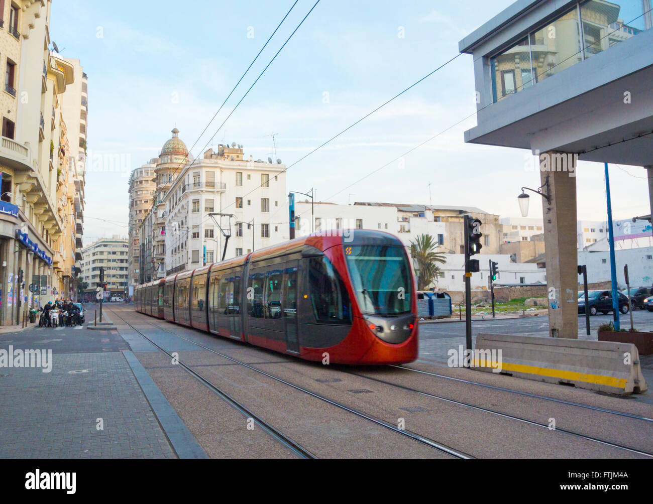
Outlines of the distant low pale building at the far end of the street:
{"type": "Polygon", "coordinates": [[[104,268],[106,298],[127,295],[129,276],[129,242],[119,235],[102,238],[82,251],[81,280],[88,284],[84,298],[95,300],[97,283],[100,281],[100,268],[104,268]]]}

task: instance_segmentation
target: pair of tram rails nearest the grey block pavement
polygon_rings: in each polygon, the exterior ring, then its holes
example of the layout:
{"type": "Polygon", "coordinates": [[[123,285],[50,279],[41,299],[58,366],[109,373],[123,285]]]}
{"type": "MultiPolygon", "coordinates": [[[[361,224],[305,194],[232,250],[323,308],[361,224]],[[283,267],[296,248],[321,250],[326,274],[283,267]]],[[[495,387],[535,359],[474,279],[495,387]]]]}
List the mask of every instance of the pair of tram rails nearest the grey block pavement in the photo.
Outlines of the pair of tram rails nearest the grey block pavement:
{"type": "MultiPolygon", "coordinates": [[[[163,349],[162,347],[157,345],[157,343],[155,343],[150,338],[148,338],[148,336],[146,336],[142,331],[138,330],[133,324],[127,322],[127,320],[125,320],[118,313],[116,313],[116,311],[114,311],[112,309],[106,309],[106,311],[110,311],[110,313],[112,313],[114,316],[118,317],[118,319],[123,321],[123,323],[127,324],[133,330],[138,332],[138,334],[140,334],[140,336],[142,336],[143,338],[150,341],[150,343],[152,345],[154,345],[157,349],[159,349],[163,353],[170,356],[170,358],[172,358],[172,354],[168,353],[168,351],[166,351],[165,349],[163,349]]],[[[387,428],[389,430],[392,430],[392,432],[396,432],[396,433],[398,433],[398,434],[400,434],[400,435],[402,435],[404,437],[408,437],[409,439],[413,439],[414,441],[418,441],[419,443],[422,443],[422,444],[424,444],[424,445],[426,445],[426,446],[428,446],[428,447],[430,447],[432,449],[438,450],[439,452],[443,452],[443,453],[451,455],[451,456],[453,456],[455,458],[462,458],[462,459],[473,458],[473,456],[471,456],[469,454],[466,454],[464,452],[460,452],[460,451],[455,450],[455,449],[453,449],[451,447],[447,447],[446,445],[438,443],[438,441],[435,441],[434,439],[430,439],[428,437],[425,437],[425,436],[422,436],[420,434],[411,432],[409,430],[400,429],[400,428],[394,426],[393,424],[390,424],[389,422],[386,422],[385,420],[381,420],[381,418],[376,418],[373,415],[368,415],[367,413],[364,413],[364,412],[359,411],[359,410],[357,410],[355,408],[344,405],[344,404],[342,404],[340,402],[331,400],[331,399],[329,399],[329,398],[327,398],[325,396],[322,396],[321,394],[317,394],[316,392],[308,390],[308,388],[304,388],[304,387],[302,387],[300,385],[296,385],[294,383],[286,381],[286,380],[284,380],[282,378],[279,378],[279,377],[277,377],[275,375],[272,375],[270,373],[266,373],[266,371],[259,370],[258,368],[255,368],[253,366],[249,366],[249,364],[246,364],[245,362],[241,362],[240,360],[234,359],[234,358],[232,358],[232,357],[230,357],[228,355],[225,355],[223,353],[215,351],[214,349],[210,349],[208,347],[205,347],[204,345],[201,345],[200,343],[197,343],[196,341],[193,341],[191,339],[184,338],[183,336],[180,336],[179,334],[175,334],[174,332],[169,331],[169,330],[167,330],[165,328],[162,328],[161,326],[158,326],[157,324],[153,324],[151,322],[148,322],[148,324],[150,324],[151,326],[154,326],[155,328],[157,328],[159,330],[167,332],[168,334],[172,334],[172,336],[175,336],[176,338],[183,339],[184,341],[187,341],[188,343],[196,345],[197,347],[199,347],[199,348],[201,348],[203,350],[206,350],[206,351],[208,351],[210,353],[216,354],[216,355],[221,356],[221,357],[223,357],[223,358],[225,358],[227,360],[230,360],[231,362],[234,362],[234,364],[238,364],[238,365],[243,366],[244,368],[247,368],[247,369],[249,369],[251,371],[255,371],[257,373],[260,373],[261,375],[264,375],[264,376],[266,376],[268,378],[271,378],[271,379],[273,379],[275,381],[278,381],[279,383],[283,383],[284,385],[290,386],[290,387],[294,388],[295,390],[298,390],[299,392],[303,392],[304,394],[307,394],[308,396],[311,396],[313,398],[316,398],[316,399],[319,399],[319,400],[321,400],[323,402],[326,402],[326,403],[328,403],[330,405],[338,407],[339,409],[342,409],[343,411],[347,411],[347,413],[351,413],[353,415],[356,415],[357,417],[364,418],[365,420],[373,422],[374,424],[376,424],[378,426],[381,426],[381,427],[387,428]]],[[[246,407],[244,407],[244,405],[238,403],[236,400],[231,398],[229,395],[225,394],[225,392],[223,392],[222,390],[217,388],[215,385],[210,383],[210,381],[208,381],[207,379],[202,377],[199,373],[197,373],[197,371],[194,371],[192,368],[190,368],[186,364],[183,364],[181,360],[178,359],[177,361],[179,362],[179,364],[185,370],[189,371],[189,373],[191,373],[191,375],[195,376],[197,379],[202,381],[202,383],[204,383],[204,385],[209,386],[209,388],[214,390],[219,396],[225,398],[225,400],[227,400],[227,402],[234,405],[240,411],[246,412],[245,414],[248,417],[255,418],[255,420],[257,420],[257,422],[261,422],[261,424],[263,426],[266,426],[266,430],[268,431],[268,433],[270,433],[270,435],[273,435],[273,437],[276,437],[277,439],[279,439],[279,441],[283,442],[284,445],[291,448],[297,454],[300,454],[300,456],[302,456],[302,458],[316,458],[313,454],[310,454],[310,452],[308,452],[304,448],[297,445],[294,441],[289,439],[287,436],[283,435],[283,433],[279,432],[276,428],[270,426],[269,424],[266,424],[259,417],[256,417],[255,415],[253,415],[253,413],[251,413],[246,407]]]]}

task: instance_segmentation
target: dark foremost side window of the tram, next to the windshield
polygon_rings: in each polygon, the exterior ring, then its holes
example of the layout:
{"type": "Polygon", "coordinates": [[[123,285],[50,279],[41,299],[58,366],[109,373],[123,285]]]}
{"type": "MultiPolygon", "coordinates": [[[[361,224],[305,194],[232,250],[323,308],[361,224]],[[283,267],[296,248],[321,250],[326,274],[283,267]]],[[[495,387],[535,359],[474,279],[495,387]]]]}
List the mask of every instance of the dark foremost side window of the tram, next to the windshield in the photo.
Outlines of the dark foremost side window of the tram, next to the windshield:
{"type": "Polygon", "coordinates": [[[351,324],[349,294],[327,257],[309,260],[308,283],[313,314],[319,323],[351,324]]]}

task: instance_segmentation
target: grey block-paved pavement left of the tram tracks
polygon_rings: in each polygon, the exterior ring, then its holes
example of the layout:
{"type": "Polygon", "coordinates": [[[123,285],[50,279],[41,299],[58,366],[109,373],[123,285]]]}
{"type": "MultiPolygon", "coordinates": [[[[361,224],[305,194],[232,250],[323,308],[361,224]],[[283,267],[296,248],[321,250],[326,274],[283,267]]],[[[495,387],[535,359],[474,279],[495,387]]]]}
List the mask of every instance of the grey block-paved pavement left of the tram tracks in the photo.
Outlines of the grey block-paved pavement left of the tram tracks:
{"type": "Polygon", "coordinates": [[[0,368],[0,458],[176,458],[117,333],[33,328],[9,345],[51,349],[52,371],[0,368]]]}

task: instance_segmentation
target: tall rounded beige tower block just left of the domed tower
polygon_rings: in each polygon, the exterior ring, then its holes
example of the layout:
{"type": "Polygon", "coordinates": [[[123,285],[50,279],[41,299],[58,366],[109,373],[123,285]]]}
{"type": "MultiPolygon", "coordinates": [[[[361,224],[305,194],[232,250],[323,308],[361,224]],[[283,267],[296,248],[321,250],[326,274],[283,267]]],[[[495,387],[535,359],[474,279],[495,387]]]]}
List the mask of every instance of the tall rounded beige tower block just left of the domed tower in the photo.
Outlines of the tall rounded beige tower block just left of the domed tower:
{"type": "MultiPolygon", "coordinates": [[[[154,193],[157,188],[153,180],[154,170],[159,158],[135,168],[129,177],[129,286],[138,285],[140,274],[140,240],[138,228],[152,208],[154,193]]],[[[132,296],[133,292],[128,291],[132,296]]]]}

